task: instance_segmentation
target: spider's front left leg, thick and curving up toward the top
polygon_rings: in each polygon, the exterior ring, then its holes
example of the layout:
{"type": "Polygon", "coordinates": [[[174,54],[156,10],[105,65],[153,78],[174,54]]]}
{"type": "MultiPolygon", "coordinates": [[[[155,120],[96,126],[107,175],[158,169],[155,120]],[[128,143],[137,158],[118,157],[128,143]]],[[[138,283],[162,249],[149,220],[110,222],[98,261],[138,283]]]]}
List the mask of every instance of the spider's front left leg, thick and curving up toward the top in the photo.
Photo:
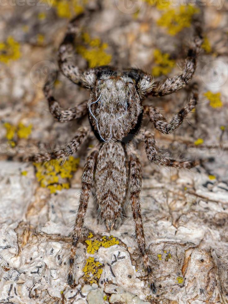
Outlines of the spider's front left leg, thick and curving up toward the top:
{"type": "Polygon", "coordinates": [[[80,32],[79,22],[82,19],[87,20],[85,13],[78,15],[76,18],[70,21],[65,38],[59,47],[59,67],[62,73],[69,78],[73,83],[76,83],[82,87],[93,87],[96,81],[95,69],[87,69],[81,71],[78,66],[72,64],[72,57],[74,56],[74,39],[80,32]]]}

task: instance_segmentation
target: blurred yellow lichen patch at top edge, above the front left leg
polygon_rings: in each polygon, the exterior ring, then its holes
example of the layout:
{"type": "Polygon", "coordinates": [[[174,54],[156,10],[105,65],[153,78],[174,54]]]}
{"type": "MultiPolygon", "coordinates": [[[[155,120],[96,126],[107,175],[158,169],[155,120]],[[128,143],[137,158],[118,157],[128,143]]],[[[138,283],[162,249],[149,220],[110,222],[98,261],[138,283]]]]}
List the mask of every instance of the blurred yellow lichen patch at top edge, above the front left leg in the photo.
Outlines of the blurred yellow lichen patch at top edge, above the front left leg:
{"type": "Polygon", "coordinates": [[[60,18],[72,18],[82,13],[88,0],[54,0],[52,6],[56,8],[60,18]]]}

